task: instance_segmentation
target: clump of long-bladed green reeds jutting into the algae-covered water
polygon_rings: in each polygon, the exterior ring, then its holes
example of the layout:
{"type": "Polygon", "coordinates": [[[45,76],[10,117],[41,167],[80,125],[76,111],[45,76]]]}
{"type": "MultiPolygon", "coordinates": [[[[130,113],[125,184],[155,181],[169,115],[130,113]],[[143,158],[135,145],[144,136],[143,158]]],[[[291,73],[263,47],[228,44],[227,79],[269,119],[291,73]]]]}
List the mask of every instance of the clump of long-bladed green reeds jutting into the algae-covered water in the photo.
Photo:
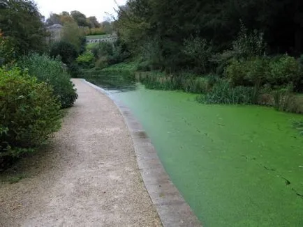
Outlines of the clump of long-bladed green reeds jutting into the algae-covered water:
{"type": "Polygon", "coordinates": [[[253,104],[256,102],[256,91],[253,87],[232,87],[228,81],[219,81],[212,91],[197,97],[198,102],[206,104],[253,104]]]}

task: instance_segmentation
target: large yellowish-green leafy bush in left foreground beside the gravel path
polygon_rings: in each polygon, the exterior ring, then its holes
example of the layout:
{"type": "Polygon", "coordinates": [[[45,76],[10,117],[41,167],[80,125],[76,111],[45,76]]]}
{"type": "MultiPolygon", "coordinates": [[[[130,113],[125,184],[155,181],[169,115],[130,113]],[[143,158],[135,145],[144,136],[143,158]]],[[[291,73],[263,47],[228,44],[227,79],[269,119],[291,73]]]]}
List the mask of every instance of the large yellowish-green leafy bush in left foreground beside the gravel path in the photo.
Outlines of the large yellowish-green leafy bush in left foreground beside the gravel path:
{"type": "Polygon", "coordinates": [[[43,144],[60,128],[52,88],[18,68],[0,69],[0,165],[43,144]]]}

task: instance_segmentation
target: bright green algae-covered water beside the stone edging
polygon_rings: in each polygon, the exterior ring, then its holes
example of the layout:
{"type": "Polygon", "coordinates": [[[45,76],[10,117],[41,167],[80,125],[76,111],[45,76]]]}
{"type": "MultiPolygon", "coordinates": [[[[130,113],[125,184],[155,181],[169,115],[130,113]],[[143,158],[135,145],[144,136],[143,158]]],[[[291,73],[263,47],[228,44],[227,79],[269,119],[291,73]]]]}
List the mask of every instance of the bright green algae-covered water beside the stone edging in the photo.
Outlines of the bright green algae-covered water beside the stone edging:
{"type": "Polygon", "coordinates": [[[303,136],[291,125],[302,116],[142,86],[114,97],[140,120],[203,226],[303,226],[303,136]]]}

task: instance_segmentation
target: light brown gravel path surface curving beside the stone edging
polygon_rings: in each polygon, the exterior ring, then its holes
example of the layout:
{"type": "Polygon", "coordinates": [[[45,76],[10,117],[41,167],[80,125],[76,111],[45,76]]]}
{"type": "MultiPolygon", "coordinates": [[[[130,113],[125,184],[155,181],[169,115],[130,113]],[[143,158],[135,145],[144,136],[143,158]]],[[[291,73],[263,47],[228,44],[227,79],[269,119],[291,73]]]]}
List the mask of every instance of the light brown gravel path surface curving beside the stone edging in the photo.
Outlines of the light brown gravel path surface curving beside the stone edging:
{"type": "Polygon", "coordinates": [[[62,130],[31,176],[0,186],[0,226],[161,226],[124,119],[80,80],[62,130]]]}

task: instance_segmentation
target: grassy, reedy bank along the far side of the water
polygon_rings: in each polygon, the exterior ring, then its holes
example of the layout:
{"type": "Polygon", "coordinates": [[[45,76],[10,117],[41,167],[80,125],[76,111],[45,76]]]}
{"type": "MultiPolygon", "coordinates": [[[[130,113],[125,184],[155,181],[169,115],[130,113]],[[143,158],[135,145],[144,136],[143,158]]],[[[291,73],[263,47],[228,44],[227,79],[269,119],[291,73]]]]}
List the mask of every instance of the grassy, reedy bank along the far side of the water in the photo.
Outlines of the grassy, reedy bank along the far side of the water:
{"type": "Polygon", "coordinates": [[[232,86],[228,79],[218,75],[198,76],[186,72],[169,75],[156,70],[142,72],[138,70],[138,65],[137,62],[119,63],[103,69],[84,70],[82,75],[91,81],[100,81],[98,77],[106,75],[123,75],[124,81],[139,81],[149,89],[197,94],[196,101],[205,104],[257,104],[274,107],[279,111],[303,114],[303,95],[293,93],[288,88],[232,86]]]}

